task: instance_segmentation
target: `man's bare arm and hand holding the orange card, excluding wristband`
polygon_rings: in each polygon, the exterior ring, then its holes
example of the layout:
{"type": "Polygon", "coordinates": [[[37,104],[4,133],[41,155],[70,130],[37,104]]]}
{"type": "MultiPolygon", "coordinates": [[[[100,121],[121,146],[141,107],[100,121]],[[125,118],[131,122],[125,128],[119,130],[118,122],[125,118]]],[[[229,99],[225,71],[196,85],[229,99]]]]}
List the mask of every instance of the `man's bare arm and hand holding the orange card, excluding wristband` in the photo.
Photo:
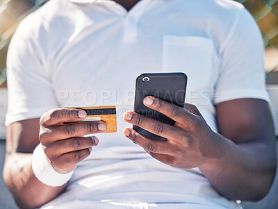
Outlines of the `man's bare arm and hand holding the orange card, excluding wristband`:
{"type": "Polygon", "coordinates": [[[97,137],[80,136],[103,133],[104,122],[64,124],[84,119],[79,111],[49,110],[40,119],[26,119],[8,126],[3,178],[19,208],[38,208],[58,197],[66,187],[66,184],[60,187],[44,185],[33,174],[32,153],[39,143],[51,166],[60,174],[72,172],[78,162],[89,156],[92,147],[97,146],[97,137]]]}

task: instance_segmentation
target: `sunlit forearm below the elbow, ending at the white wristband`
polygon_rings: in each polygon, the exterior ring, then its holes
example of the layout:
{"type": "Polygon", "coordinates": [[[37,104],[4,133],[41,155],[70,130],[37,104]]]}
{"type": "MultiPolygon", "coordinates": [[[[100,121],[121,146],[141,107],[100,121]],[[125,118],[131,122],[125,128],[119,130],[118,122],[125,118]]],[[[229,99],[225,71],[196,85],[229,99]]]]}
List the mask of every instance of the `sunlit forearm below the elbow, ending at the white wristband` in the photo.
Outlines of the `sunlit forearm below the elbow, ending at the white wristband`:
{"type": "Polygon", "coordinates": [[[57,197],[66,185],[50,187],[44,185],[33,174],[31,153],[13,153],[6,156],[3,177],[20,208],[42,206],[57,197]]]}

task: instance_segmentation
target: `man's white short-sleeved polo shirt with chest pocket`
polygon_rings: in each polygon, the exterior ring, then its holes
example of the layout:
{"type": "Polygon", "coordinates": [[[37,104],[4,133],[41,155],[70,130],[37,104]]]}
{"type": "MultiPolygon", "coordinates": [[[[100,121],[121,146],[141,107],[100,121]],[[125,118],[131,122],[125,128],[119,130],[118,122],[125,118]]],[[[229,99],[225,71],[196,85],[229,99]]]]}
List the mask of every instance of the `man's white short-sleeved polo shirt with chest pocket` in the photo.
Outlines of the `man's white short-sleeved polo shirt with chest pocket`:
{"type": "Polygon", "coordinates": [[[124,137],[136,76],[184,72],[186,101],[214,131],[214,103],[268,100],[254,19],[227,0],[52,0],[26,17],[8,51],[6,125],[65,106],[117,106],[117,133],[79,163],[51,208],[238,208],[199,169],[158,162],[124,137]]]}

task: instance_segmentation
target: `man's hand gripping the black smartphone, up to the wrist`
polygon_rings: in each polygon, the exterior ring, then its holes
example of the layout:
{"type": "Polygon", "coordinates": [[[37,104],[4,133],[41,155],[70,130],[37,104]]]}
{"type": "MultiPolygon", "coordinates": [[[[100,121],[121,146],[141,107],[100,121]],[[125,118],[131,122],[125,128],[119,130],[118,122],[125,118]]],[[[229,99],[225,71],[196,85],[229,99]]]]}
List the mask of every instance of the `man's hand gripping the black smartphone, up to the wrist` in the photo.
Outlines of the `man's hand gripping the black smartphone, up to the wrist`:
{"type": "Polygon", "coordinates": [[[124,135],[153,158],[181,169],[206,169],[213,163],[213,159],[221,156],[219,151],[213,149],[213,137],[216,133],[206,124],[196,106],[185,103],[184,108],[181,108],[152,96],[145,97],[144,105],[176,122],[171,126],[136,112],[124,113],[125,122],[167,138],[167,141],[152,140],[132,128],[124,128],[124,135]]]}

